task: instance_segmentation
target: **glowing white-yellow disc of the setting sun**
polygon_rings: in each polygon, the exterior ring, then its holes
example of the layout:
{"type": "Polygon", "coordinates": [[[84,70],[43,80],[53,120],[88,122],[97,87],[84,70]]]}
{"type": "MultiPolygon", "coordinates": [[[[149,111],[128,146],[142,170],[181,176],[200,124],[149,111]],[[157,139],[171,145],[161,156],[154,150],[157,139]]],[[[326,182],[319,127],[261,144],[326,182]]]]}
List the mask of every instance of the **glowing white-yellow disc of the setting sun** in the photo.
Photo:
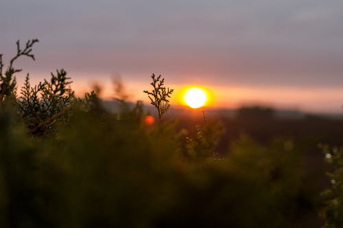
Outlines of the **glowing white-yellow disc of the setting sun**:
{"type": "Polygon", "coordinates": [[[192,87],[185,92],[183,99],[189,107],[198,108],[202,107],[206,103],[207,97],[205,90],[202,88],[192,87]]]}

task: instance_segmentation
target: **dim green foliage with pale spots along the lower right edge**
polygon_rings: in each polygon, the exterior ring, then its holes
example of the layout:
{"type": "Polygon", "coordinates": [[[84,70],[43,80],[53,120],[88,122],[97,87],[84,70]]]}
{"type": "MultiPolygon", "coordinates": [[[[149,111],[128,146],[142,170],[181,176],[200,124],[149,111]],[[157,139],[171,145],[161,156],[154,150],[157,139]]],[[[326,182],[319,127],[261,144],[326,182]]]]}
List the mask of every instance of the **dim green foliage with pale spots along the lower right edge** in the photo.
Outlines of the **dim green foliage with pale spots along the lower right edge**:
{"type": "Polygon", "coordinates": [[[328,173],[331,186],[322,192],[324,205],[321,215],[325,219],[324,228],[343,227],[343,148],[322,147],[325,160],[333,170],[328,173]]]}

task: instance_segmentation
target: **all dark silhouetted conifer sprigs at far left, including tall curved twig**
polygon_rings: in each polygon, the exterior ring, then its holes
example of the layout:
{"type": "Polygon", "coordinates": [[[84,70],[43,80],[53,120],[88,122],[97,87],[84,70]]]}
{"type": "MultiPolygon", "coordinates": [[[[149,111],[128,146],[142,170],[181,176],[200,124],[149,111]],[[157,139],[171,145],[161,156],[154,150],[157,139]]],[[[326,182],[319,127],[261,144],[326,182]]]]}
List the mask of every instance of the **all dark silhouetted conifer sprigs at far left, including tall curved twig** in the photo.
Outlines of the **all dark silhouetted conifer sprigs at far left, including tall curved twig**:
{"type": "Polygon", "coordinates": [[[22,49],[19,40],[16,42],[16,55],[10,60],[5,72],[2,55],[0,55],[0,105],[5,100],[10,100],[23,117],[30,134],[44,136],[55,131],[56,125],[65,125],[71,115],[71,105],[84,112],[104,112],[95,92],[86,93],[84,99],[75,99],[74,91],[70,88],[72,81],[67,77],[64,69],[51,73],[49,80],[44,79],[38,85],[31,86],[29,74],[21,88],[20,96],[16,97],[15,73],[21,68],[15,68],[14,62],[21,56],[35,60],[32,47],[37,39],[28,40],[22,49]]]}

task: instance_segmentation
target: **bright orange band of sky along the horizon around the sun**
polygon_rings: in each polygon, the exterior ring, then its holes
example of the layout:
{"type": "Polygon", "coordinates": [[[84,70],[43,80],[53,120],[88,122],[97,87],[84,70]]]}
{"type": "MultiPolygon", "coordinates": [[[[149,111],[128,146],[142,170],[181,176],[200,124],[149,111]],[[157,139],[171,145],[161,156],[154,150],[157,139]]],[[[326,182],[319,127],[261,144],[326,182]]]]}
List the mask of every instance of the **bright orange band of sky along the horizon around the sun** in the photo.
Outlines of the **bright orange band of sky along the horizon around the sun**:
{"type": "MultiPolygon", "coordinates": [[[[105,78],[99,77],[99,78],[105,78]]],[[[21,80],[19,80],[20,83],[21,80]]],[[[84,80],[80,77],[73,79],[72,88],[78,96],[91,90],[94,82],[102,87],[102,97],[112,99],[115,97],[113,80],[110,76],[105,80],[84,80]]],[[[150,77],[146,81],[130,81],[122,78],[124,92],[130,101],[142,100],[150,103],[143,90],[151,90],[150,77]]],[[[209,86],[203,84],[169,84],[168,77],[165,77],[165,84],[174,88],[171,97],[171,105],[183,105],[180,101],[180,92],[189,86],[200,86],[206,88],[213,94],[213,99],[207,107],[213,108],[236,108],[241,105],[268,105],[272,107],[303,110],[306,112],[343,112],[343,88],[301,88],[301,87],[275,87],[275,86],[209,86]]]]}

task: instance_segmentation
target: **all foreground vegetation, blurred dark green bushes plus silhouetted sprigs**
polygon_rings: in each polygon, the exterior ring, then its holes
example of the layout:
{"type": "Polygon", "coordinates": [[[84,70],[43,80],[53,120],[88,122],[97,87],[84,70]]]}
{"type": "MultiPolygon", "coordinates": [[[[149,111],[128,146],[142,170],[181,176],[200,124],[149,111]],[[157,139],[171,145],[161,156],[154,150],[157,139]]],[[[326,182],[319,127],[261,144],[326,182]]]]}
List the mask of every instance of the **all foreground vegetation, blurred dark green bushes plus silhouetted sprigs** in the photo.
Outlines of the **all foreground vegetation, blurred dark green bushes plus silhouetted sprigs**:
{"type": "Polygon", "coordinates": [[[194,134],[162,123],[168,100],[153,92],[158,125],[141,102],[111,113],[95,92],[75,97],[64,70],[36,86],[27,75],[17,94],[14,62],[34,59],[37,41],[17,42],[6,70],[0,58],[0,227],[318,227],[323,204],[327,227],[342,227],[338,150],[327,156],[335,184],[320,198],[292,142],[241,135],[219,154],[220,122],[194,134]]]}

